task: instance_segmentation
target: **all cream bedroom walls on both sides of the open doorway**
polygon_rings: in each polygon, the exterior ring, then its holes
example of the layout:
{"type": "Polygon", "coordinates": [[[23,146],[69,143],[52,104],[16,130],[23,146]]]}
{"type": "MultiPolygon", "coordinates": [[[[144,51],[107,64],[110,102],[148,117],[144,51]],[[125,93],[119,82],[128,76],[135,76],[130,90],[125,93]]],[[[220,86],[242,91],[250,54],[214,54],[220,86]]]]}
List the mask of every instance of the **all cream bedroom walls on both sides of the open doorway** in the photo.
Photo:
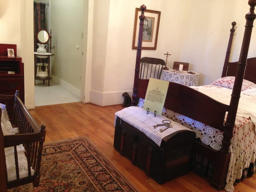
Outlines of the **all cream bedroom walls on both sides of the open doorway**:
{"type": "MultiPolygon", "coordinates": [[[[232,61],[239,58],[248,1],[241,0],[90,0],[88,1],[88,44],[85,102],[98,105],[122,103],[123,92],[132,92],[136,50],[132,50],[135,8],[161,11],[156,50],[142,50],[141,56],[189,62],[200,72],[200,85],[220,77],[231,22],[236,21],[232,61]],[[93,17],[92,17],[93,16],[93,17]],[[90,78],[91,77],[91,78],[90,78]],[[89,79],[88,79],[89,78],[89,79]]],[[[25,63],[25,103],[34,107],[33,1],[0,0],[0,42],[17,44],[25,63]],[[15,6],[13,6],[15,4],[15,6]],[[10,19],[11,15],[11,19],[10,19]],[[15,18],[15,19],[13,19],[15,18]],[[3,26],[3,27],[2,27],[3,26]]],[[[252,40],[255,42],[255,29],[252,40]]],[[[256,46],[250,46],[253,56],[256,46]]],[[[85,58],[85,57],[84,57],[85,58]]],[[[84,61],[84,62],[85,62],[84,61]]]]}

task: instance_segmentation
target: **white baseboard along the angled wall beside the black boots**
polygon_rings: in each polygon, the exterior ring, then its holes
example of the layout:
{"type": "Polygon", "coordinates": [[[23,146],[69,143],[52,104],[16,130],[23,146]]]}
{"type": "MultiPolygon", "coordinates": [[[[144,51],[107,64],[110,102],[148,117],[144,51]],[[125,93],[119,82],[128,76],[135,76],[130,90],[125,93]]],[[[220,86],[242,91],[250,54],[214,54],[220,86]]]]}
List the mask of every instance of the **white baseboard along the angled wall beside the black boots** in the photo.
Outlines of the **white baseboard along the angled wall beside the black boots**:
{"type": "Polygon", "coordinates": [[[124,96],[122,94],[124,92],[128,92],[130,97],[132,98],[132,91],[122,91],[122,92],[98,92],[98,91],[90,91],[90,103],[99,106],[108,106],[108,105],[116,105],[124,103],[124,96]]]}

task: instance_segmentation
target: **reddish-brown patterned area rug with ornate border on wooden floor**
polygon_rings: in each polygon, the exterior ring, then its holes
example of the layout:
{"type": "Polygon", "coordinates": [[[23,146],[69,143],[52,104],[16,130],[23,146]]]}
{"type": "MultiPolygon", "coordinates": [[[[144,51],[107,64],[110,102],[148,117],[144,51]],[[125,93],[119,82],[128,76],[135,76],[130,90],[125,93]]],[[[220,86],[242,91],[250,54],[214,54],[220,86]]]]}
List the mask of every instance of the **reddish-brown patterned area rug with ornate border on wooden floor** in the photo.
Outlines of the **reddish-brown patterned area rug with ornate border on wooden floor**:
{"type": "Polygon", "coordinates": [[[39,187],[9,191],[137,191],[87,138],[44,144],[39,187]]]}

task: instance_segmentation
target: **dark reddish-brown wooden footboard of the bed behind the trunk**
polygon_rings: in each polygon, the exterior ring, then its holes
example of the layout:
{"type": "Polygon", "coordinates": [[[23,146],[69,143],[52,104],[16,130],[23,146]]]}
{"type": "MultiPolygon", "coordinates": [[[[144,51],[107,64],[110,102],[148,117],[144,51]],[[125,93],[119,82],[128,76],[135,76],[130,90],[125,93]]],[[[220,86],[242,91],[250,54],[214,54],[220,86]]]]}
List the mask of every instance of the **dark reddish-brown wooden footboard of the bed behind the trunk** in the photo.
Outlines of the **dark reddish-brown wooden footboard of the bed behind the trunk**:
{"type": "MultiPolygon", "coordinates": [[[[144,99],[149,80],[139,79],[137,96],[144,99]]],[[[229,106],[190,87],[169,82],[164,107],[221,131],[225,130],[224,117],[229,106]]],[[[202,142],[195,142],[195,153],[215,163],[211,185],[216,189],[225,187],[230,153],[214,150],[202,142]]]]}

